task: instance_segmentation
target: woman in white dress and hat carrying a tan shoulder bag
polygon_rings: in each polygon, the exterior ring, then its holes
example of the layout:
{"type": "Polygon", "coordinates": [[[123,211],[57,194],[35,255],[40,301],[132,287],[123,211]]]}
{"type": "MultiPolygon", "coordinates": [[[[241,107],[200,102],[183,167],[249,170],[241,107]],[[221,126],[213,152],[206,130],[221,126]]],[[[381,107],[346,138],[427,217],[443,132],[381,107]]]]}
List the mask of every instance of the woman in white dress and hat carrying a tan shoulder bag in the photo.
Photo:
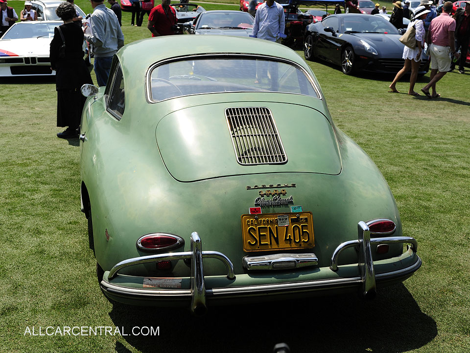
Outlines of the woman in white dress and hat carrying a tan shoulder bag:
{"type": "Polygon", "coordinates": [[[408,24],[408,28],[406,29],[408,30],[411,26],[415,27],[415,38],[417,47],[415,47],[414,49],[411,49],[407,46],[404,47],[402,58],[405,59],[405,64],[403,65],[403,68],[397,73],[397,76],[395,76],[390,86],[388,86],[390,88],[389,92],[400,93],[395,87],[395,85],[397,84],[401,76],[410,71],[411,68],[410,89],[408,91],[408,94],[411,96],[421,96],[418,92],[415,92],[414,88],[416,79],[418,78],[418,70],[420,68],[421,58],[423,56],[424,35],[426,33],[424,30],[423,20],[426,18],[426,15],[429,12],[431,11],[427,10],[424,6],[418,6],[416,8],[415,20],[410,22],[408,24]]]}

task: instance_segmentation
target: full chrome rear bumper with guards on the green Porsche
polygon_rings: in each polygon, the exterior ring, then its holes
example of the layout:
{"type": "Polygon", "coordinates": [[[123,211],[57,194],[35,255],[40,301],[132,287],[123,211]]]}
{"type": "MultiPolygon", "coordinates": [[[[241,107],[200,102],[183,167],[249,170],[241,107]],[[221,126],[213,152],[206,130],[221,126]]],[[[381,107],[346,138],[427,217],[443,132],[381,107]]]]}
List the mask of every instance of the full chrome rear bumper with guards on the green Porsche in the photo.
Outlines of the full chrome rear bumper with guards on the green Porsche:
{"type": "MultiPolygon", "coordinates": [[[[262,284],[262,285],[241,285],[241,286],[223,286],[213,287],[206,289],[203,268],[203,258],[215,258],[222,261],[227,268],[228,284],[235,283],[234,266],[230,259],[220,252],[202,251],[202,243],[199,235],[196,232],[191,234],[191,251],[189,252],[176,252],[164,253],[149,256],[142,256],[130,258],[116,264],[109,274],[106,274],[101,281],[101,288],[110,297],[118,297],[125,299],[137,300],[157,300],[159,302],[176,302],[178,300],[187,302],[191,301],[191,310],[196,314],[202,314],[207,310],[206,299],[233,299],[237,297],[259,297],[266,294],[270,295],[284,295],[294,294],[296,292],[309,293],[315,291],[325,291],[334,289],[347,289],[356,288],[362,285],[362,294],[366,297],[371,297],[376,294],[376,281],[400,281],[410,277],[416,270],[421,267],[421,259],[416,255],[417,242],[411,237],[381,237],[370,238],[369,227],[364,222],[359,222],[358,225],[358,240],[348,241],[340,244],[332,254],[331,264],[328,270],[331,274],[335,274],[343,266],[338,267],[338,258],[340,253],[351,247],[358,248],[358,267],[360,269],[360,276],[352,277],[333,277],[322,278],[315,280],[297,281],[297,282],[283,282],[277,284],[262,284]],[[408,266],[396,271],[375,274],[375,266],[372,259],[371,244],[394,244],[394,243],[410,243],[411,251],[408,252],[413,257],[413,262],[408,266]],[[117,283],[112,283],[114,277],[118,275],[118,271],[127,266],[137,264],[156,262],[161,260],[177,260],[177,259],[190,259],[191,261],[191,289],[142,289],[131,288],[122,286],[117,283]]],[[[404,255],[404,254],[403,254],[404,255]]],[[[345,267],[351,265],[345,265],[345,267]]],[[[325,268],[327,270],[327,268],[325,268]]],[[[355,270],[357,273],[357,270],[355,270]]],[[[245,275],[240,275],[245,276],[245,275]]]]}

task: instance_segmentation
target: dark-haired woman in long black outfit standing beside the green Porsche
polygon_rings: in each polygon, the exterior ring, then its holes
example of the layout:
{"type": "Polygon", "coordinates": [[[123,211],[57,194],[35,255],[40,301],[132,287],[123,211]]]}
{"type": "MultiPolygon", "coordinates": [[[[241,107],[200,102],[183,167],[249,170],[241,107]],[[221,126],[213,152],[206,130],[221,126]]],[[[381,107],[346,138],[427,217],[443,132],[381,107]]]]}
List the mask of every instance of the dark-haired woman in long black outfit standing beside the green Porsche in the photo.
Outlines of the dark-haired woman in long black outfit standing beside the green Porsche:
{"type": "Polygon", "coordinates": [[[80,88],[85,83],[92,83],[92,77],[83,60],[83,31],[80,26],[73,23],[77,13],[75,7],[69,2],[62,2],[57,6],[56,14],[63,21],[60,29],[54,29],[54,38],[50,43],[50,66],[56,71],[55,84],[57,90],[57,126],[68,126],[57,137],[78,137],[78,126],[82,115],[85,97],[80,88]]]}

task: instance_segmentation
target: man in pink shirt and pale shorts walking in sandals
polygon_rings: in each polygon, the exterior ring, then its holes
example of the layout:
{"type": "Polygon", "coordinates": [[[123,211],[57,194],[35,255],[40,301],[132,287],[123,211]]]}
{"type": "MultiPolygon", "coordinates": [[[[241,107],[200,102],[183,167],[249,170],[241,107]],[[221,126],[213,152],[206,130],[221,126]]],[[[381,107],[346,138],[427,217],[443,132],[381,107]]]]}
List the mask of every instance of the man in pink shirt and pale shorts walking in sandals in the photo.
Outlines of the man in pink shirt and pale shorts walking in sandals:
{"type": "Polygon", "coordinates": [[[429,25],[426,43],[431,56],[431,80],[421,89],[428,98],[441,96],[436,92],[436,82],[450,71],[450,54],[458,58],[458,53],[455,52],[455,20],[450,17],[451,12],[452,2],[447,1],[442,7],[442,14],[434,18],[429,25]],[[429,88],[432,89],[432,95],[429,88]]]}

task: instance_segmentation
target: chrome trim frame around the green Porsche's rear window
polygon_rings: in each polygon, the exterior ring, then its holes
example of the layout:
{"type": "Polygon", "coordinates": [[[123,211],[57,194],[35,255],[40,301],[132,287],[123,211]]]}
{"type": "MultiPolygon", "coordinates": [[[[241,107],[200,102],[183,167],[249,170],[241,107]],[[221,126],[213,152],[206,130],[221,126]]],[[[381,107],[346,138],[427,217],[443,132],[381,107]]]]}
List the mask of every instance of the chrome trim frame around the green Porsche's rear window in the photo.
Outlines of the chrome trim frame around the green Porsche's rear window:
{"type": "MultiPolygon", "coordinates": [[[[168,59],[158,61],[158,62],[152,64],[151,66],[149,66],[149,68],[147,69],[147,72],[145,74],[145,98],[146,98],[147,102],[148,103],[157,103],[157,102],[167,101],[168,99],[173,99],[173,98],[178,98],[178,97],[199,96],[199,95],[203,95],[203,94],[206,95],[206,94],[215,94],[215,93],[225,93],[225,92],[197,93],[197,94],[190,94],[190,95],[172,97],[172,98],[168,98],[166,100],[161,100],[161,101],[153,101],[151,99],[151,95],[150,95],[150,92],[152,90],[150,76],[151,76],[151,73],[152,73],[153,69],[155,69],[157,66],[164,65],[166,63],[173,62],[173,61],[182,61],[182,60],[191,60],[191,59],[192,60],[193,59],[207,59],[207,58],[217,58],[217,57],[219,57],[219,58],[236,58],[236,57],[238,57],[238,58],[248,58],[248,59],[264,59],[264,60],[283,62],[283,63],[289,64],[289,65],[295,66],[297,69],[302,71],[302,73],[304,73],[304,75],[307,77],[307,79],[310,82],[310,84],[312,85],[315,93],[317,94],[317,97],[308,96],[308,95],[304,95],[304,94],[300,94],[300,93],[292,93],[292,92],[269,92],[269,93],[295,94],[295,95],[299,95],[299,96],[317,98],[320,101],[323,100],[321,90],[316,85],[315,80],[313,79],[313,77],[310,76],[310,74],[301,65],[297,64],[294,61],[290,61],[288,59],[284,59],[284,58],[277,57],[277,56],[263,55],[263,54],[217,53],[217,52],[214,52],[214,53],[208,53],[208,54],[191,54],[191,55],[175,56],[175,57],[172,57],[172,58],[168,58],[168,59]]],[[[227,93],[240,93],[240,92],[253,93],[253,91],[231,91],[231,92],[227,92],[227,93]]],[[[263,92],[259,91],[259,93],[263,93],[263,92]]]]}

